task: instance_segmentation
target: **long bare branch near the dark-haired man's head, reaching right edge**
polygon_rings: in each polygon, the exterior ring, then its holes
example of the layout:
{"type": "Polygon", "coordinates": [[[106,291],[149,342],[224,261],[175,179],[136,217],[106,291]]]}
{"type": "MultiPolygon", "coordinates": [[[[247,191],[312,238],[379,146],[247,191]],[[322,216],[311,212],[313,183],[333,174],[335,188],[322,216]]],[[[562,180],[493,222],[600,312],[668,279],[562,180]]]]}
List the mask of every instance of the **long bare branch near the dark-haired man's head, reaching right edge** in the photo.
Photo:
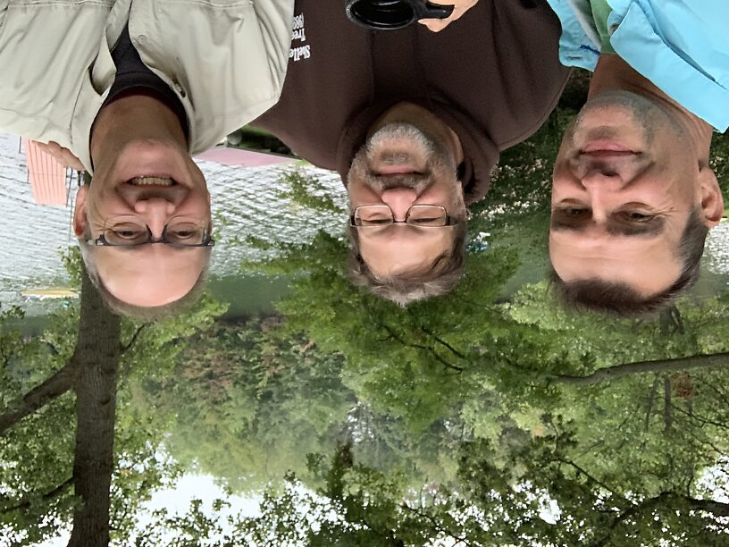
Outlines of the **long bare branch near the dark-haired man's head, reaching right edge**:
{"type": "Polygon", "coordinates": [[[729,353],[716,353],[714,355],[694,355],[687,358],[657,359],[655,361],[639,361],[625,363],[624,365],[606,366],[599,368],[587,376],[570,376],[557,374],[549,376],[549,380],[569,385],[591,385],[605,380],[616,380],[630,374],[643,373],[669,373],[691,368],[729,368],[729,353]]]}

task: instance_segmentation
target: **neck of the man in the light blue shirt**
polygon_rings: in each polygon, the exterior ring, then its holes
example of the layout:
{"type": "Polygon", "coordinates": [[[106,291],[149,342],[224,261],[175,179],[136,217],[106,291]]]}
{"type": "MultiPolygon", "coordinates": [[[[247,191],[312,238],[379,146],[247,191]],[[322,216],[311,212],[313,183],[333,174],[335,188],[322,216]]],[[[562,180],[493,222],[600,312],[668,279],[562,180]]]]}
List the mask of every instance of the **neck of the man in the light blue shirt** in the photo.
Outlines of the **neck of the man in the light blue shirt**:
{"type": "Polygon", "coordinates": [[[600,55],[598,65],[590,80],[588,100],[598,97],[606,91],[625,90],[637,95],[647,97],[662,106],[668,114],[673,114],[680,120],[688,131],[691,140],[696,146],[699,162],[702,166],[708,164],[708,151],[711,146],[713,128],[707,122],[691,114],[682,105],[657,88],[633,67],[618,55],[600,55]]]}

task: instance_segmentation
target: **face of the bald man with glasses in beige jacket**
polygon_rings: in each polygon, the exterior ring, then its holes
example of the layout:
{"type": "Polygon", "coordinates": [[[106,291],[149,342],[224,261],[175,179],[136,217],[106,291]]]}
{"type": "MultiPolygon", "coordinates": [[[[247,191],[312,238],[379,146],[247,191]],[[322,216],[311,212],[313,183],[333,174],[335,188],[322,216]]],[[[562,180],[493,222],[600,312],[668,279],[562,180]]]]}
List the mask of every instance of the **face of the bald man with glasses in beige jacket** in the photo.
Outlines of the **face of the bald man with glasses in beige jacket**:
{"type": "MultiPolygon", "coordinates": [[[[100,165],[93,184],[79,190],[74,212],[78,236],[90,233],[89,239],[96,239],[105,229],[122,232],[132,223],[146,224],[155,238],[162,237],[165,225],[209,226],[205,178],[187,150],[159,141],[134,142],[100,165]]],[[[197,282],[207,257],[205,248],[163,244],[96,247],[93,252],[105,288],[140,307],[183,297],[197,282]]]]}

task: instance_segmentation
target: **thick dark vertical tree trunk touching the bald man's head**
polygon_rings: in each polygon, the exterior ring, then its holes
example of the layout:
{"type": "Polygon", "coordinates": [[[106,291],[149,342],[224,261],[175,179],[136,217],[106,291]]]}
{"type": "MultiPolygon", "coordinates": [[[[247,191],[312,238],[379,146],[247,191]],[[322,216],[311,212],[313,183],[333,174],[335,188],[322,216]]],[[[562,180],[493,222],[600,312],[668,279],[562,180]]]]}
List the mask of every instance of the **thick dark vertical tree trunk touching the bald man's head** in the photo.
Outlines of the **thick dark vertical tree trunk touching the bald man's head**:
{"type": "Polygon", "coordinates": [[[69,547],[109,544],[109,507],[113,472],[114,410],[121,327],[84,273],[79,338],[76,343],[75,493],[69,547]]]}

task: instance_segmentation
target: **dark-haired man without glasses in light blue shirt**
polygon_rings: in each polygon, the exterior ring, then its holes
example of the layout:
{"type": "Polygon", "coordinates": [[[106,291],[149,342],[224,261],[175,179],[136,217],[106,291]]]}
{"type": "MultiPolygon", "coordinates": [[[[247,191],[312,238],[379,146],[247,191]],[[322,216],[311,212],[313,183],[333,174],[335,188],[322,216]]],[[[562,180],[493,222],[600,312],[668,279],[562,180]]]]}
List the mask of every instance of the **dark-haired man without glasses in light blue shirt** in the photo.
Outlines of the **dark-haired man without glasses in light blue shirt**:
{"type": "Polygon", "coordinates": [[[691,287],[724,203],[708,166],[729,126],[725,0],[549,0],[562,63],[594,71],[552,187],[549,255],[566,301],[623,315],[691,287]]]}

